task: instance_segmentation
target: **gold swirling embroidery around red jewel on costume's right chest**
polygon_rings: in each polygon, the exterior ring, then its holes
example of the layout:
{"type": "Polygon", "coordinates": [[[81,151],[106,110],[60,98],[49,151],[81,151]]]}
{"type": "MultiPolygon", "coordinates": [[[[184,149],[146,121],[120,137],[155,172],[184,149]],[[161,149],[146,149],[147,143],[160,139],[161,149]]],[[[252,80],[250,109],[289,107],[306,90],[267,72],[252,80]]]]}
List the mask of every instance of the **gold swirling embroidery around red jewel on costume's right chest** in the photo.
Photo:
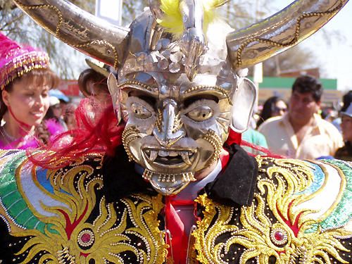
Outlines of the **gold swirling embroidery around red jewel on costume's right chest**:
{"type": "Polygon", "coordinates": [[[208,199],[206,194],[197,202],[203,207],[203,220],[197,222],[193,235],[201,263],[229,263],[239,258],[244,264],[256,258],[258,263],[341,263],[339,251],[348,250],[339,237],[351,236],[342,228],[322,232],[306,232],[317,220],[306,217],[312,210],[295,210],[294,206],[313,181],[313,167],[303,161],[289,159],[263,160],[257,157],[266,177],[260,177],[251,206],[243,206],[239,216],[228,206],[208,199]],[[225,237],[225,239],[224,239],[225,237]],[[236,256],[240,254],[240,256],[236,256]]]}

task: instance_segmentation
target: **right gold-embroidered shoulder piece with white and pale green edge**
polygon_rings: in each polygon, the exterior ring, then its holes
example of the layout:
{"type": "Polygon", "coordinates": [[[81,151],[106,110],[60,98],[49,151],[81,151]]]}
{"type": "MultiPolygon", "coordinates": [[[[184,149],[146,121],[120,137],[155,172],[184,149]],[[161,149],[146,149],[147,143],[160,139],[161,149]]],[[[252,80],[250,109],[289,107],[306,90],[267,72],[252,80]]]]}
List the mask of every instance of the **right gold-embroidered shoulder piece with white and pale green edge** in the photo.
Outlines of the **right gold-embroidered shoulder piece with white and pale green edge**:
{"type": "Polygon", "coordinates": [[[193,235],[199,262],[351,263],[351,165],[256,159],[251,206],[198,197],[203,219],[193,235]]]}

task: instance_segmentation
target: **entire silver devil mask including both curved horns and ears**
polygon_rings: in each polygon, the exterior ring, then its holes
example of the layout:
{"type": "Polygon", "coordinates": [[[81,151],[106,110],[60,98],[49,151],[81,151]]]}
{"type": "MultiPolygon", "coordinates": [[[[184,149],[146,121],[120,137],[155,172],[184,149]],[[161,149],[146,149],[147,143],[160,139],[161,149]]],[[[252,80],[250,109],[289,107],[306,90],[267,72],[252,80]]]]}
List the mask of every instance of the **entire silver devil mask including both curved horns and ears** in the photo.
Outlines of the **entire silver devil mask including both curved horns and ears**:
{"type": "Polygon", "coordinates": [[[297,0],[234,31],[220,22],[203,28],[203,2],[180,0],[183,33],[175,36],[160,23],[160,0],[149,0],[149,10],[130,29],[63,0],[14,1],[63,42],[116,68],[118,77],[110,75],[108,87],[126,122],[125,150],[165,195],[181,191],[218,160],[229,127],[246,130],[256,88],[237,71],[298,44],[347,2],[297,0]]]}

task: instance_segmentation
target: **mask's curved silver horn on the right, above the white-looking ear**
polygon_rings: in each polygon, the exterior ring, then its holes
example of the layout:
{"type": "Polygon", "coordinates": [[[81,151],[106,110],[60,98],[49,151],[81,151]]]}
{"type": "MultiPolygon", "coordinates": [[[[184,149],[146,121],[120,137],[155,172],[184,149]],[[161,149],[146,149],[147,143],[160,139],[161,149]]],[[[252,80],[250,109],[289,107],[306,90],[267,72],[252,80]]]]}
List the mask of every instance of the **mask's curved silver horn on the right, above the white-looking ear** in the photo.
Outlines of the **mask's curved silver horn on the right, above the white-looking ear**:
{"type": "Polygon", "coordinates": [[[275,15],[227,35],[232,67],[247,68],[279,54],[315,33],[348,0],[296,0],[275,15]]]}

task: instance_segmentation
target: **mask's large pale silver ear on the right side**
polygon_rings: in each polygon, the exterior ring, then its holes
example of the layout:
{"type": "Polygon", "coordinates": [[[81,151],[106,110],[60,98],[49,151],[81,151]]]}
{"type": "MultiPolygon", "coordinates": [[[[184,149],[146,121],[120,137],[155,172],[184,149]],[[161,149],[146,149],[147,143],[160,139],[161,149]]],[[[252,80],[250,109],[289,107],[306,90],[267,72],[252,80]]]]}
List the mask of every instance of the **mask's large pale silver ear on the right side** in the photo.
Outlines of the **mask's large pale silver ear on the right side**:
{"type": "Polygon", "coordinates": [[[239,77],[237,89],[232,96],[232,118],[230,127],[237,133],[247,130],[254,104],[258,96],[256,85],[246,77],[239,77]]]}

